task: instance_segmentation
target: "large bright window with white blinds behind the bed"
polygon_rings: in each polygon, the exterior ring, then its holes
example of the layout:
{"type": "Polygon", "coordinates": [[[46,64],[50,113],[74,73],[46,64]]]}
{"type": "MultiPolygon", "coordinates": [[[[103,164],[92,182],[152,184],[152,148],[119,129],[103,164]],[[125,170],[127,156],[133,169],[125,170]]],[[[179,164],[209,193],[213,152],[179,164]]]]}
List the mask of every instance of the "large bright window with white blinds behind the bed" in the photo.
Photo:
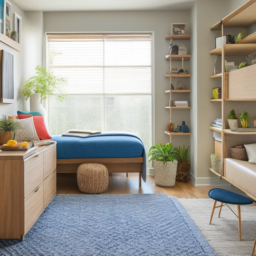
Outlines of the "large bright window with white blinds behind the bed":
{"type": "Polygon", "coordinates": [[[124,131],[152,138],[151,34],[48,34],[48,69],[68,79],[48,101],[51,134],[124,131]]]}

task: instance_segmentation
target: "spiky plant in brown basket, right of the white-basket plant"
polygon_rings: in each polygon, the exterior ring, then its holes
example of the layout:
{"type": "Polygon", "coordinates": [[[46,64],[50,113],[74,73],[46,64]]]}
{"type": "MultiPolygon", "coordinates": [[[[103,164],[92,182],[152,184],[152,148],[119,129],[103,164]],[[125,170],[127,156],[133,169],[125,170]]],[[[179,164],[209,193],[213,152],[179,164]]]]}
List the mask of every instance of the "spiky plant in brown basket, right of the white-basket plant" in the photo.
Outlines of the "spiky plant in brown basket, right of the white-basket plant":
{"type": "Polygon", "coordinates": [[[175,158],[178,161],[176,181],[187,182],[190,169],[190,147],[179,146],[176,150],[175,158]]]}

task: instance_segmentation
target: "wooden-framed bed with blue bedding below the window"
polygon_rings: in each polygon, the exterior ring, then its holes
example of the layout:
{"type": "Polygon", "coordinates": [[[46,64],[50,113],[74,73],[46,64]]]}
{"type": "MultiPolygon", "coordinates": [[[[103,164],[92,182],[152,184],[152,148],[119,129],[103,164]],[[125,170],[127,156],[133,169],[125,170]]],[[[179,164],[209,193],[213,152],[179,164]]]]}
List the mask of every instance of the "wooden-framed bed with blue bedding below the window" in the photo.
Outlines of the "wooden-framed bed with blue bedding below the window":
{"type": "Polygon", "coordinates": [[[138,172],[146,182],[146,152],[139,137],[129,133],[89,134],[85,137],[56,135],[57,173],[76,173],[85,162],[106,165],[109,173],[138,172]]]}

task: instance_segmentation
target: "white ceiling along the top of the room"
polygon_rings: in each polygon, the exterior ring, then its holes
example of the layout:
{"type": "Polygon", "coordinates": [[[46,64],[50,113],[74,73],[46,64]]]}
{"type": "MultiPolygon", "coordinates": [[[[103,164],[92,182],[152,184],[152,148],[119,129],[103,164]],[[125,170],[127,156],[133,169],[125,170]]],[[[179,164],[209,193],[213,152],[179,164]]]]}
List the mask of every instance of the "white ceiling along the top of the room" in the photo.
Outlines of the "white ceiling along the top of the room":
{"type": "Polygon", "coordinates": [[[24,11],[187,10],[195,0],[14,0],[24,11]]]}

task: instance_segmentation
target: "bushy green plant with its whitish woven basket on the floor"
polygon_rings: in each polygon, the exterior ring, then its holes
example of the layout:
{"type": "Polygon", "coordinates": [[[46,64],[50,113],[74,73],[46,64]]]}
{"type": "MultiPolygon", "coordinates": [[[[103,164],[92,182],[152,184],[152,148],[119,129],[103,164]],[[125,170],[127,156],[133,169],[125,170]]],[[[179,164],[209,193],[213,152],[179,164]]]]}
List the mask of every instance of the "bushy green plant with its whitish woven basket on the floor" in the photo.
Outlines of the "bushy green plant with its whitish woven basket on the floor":
{"type": "Polygon", "coordinates": [[[163,187],[175,184],[177,174],[177,160],[175,159],[176,147],[171,143],[151,146],[147,155],[148,161],[154,161],[155,183],[163,187]]]}

